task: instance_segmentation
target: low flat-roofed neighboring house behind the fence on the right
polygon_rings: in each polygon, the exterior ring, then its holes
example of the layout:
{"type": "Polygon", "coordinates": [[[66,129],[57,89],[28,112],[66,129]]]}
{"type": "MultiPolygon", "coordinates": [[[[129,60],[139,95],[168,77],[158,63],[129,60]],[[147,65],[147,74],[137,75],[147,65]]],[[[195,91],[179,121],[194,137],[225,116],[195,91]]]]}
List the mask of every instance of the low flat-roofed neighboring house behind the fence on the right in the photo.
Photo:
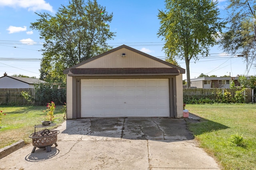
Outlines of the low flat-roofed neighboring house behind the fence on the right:
{"type": "MultiPolygon", "coordinates": [[[[238,77],[200,77],[190,79],[190,86],[195,88],[230,88],[230,80],[239,86],[238,77]]],[[[186,80],[187,81],[187,80],[186,80]]]]}

